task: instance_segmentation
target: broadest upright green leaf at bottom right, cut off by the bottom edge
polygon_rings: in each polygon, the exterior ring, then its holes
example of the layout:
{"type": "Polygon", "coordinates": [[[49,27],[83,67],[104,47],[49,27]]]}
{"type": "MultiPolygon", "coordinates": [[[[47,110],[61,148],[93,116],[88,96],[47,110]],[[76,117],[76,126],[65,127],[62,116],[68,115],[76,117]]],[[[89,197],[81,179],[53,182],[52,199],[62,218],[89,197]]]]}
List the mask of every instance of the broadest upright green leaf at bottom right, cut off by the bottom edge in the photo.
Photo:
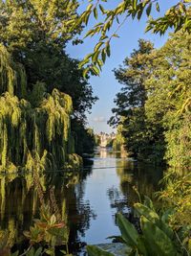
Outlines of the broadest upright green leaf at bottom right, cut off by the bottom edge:
{"type": "Polygon", "coordinates": [[[142,233],[145,239],[149,255],[175,256],[177,255],[174,244],[159,227],[144,216],[140,218],[142,233]]]}

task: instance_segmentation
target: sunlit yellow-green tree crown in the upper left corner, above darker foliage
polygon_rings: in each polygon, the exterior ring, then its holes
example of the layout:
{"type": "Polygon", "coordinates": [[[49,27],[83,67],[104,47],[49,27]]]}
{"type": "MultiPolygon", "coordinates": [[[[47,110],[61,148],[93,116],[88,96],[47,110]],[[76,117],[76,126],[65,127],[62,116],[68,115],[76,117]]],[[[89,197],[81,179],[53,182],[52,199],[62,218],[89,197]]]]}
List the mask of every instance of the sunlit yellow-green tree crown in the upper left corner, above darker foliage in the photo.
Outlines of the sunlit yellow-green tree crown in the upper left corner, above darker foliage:
{"type": "Polygon", "coordinates": [[[76,0],[1,0],[0,7],[1,41],[12,51],[40,41],[63,47],[79,32],[78,26],[70,31],[77,18],[76,0]]]}

